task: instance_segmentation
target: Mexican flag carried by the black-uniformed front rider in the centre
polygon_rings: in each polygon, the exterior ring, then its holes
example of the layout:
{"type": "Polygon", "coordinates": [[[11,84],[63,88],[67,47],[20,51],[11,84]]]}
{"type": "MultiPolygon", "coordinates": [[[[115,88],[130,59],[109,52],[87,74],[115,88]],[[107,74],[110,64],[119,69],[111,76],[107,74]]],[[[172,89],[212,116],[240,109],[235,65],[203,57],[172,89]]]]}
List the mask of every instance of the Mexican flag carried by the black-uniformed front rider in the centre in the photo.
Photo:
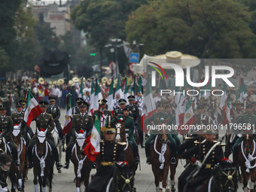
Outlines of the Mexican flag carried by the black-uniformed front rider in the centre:
{"type": "Polygon", "coordinates": [[[90,161],[94,162],[100,150],[100,126],[98,117],[95,118],[92,134],[86,139],[90,142],[84,148],[84,154],[90,159],[90,161]]]}

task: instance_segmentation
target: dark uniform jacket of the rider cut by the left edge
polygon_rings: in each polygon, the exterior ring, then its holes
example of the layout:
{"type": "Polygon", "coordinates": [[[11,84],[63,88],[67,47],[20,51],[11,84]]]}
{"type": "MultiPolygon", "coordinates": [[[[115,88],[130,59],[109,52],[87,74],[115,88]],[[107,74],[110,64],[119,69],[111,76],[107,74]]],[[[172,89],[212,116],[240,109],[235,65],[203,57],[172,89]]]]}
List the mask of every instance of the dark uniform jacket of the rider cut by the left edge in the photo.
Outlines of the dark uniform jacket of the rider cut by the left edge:
{"type": "Polygon", "coordinates": [[[7,141],[10,141],[13,130],[14,122],[11,120],[11,117],[5,115],[5,118],[2,120],[2,116],[0,115],[0,131],[2,132],[2,137],[5,137],[7,141]]]}

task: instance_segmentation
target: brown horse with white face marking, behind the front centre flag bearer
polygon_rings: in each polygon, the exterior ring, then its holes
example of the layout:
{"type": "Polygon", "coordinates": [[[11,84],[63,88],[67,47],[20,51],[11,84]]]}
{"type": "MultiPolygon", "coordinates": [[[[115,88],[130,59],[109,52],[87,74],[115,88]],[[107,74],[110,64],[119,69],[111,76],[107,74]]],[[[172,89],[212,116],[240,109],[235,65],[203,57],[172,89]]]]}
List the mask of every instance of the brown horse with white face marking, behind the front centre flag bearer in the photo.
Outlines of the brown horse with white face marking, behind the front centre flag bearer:
{"type": "Polygon", "coordinates": [[[124,122],[126,120],[126,117],[123,117],[122,121],[118,121],[117,117],[115,118],[116,121],[116,142],[119,143],[120,145],[123,145],[124,153],[126,155],[126,161],[128,162],[128,165],[133,165],[133,173],[134,175],[136,174],[136,170],[138,169],[138,163],[134,163],[134,155],[133,155],[133,147],[128,142],[128,139],[126,139],[126,132],[124,129],[124,122]]]}

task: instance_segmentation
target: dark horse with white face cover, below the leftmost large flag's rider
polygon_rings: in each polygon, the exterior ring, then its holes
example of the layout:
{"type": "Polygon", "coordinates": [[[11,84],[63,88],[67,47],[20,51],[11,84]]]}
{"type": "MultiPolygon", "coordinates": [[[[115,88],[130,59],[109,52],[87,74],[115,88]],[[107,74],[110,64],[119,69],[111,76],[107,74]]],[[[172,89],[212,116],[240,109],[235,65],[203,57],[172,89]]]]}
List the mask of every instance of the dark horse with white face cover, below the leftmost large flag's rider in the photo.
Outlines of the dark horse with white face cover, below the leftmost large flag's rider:
{"type": "Polygon", "coordinates": [[[52,191],[54,158],[52,158],[50,152],[50,144],[47,142],[46,133],[47,130],[42,129],[38,132],[38,139],[32,149],[35,192],[38,191],[38,181],[40,192],[45,192],[46,185],[49,187],[49,192],[52,191]]]}

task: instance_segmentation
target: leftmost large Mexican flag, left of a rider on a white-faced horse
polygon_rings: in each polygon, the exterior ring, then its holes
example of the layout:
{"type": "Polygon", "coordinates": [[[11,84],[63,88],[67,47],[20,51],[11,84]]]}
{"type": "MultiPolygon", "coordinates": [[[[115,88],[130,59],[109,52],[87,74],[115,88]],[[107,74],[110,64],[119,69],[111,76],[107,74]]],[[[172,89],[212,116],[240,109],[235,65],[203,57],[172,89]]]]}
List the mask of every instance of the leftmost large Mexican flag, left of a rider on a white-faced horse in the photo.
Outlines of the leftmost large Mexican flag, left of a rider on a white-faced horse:
{"type": "Polygon", "coordinates": [[[43,113],[41,107],[38,105],[38,102],[35,100],[35,98],[32,96],[32,93],[29,90],[28,100],[26,102],[26,111],[24,115],[26,126],[29,126],[31,121],[41,113],[43,113]]]}

